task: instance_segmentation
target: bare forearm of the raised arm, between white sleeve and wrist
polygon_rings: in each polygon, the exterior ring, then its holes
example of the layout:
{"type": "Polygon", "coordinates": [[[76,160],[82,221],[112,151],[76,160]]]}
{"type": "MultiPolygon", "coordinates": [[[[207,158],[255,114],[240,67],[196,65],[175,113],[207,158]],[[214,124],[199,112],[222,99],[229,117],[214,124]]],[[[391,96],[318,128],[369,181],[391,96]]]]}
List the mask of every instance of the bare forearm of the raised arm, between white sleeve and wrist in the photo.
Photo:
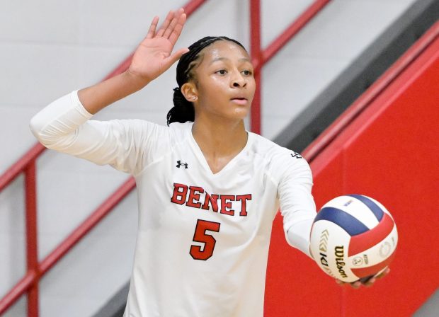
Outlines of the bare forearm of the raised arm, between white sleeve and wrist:
{"type": "Polygon", "coordinates": [[[79,100],[84,108],[94,115],[107,105],[129,96],[146,86],[148,81],[139,79],[130,71],[124,71],[122,74],[96,83],[96,85],[78,91],[79,100]]]}

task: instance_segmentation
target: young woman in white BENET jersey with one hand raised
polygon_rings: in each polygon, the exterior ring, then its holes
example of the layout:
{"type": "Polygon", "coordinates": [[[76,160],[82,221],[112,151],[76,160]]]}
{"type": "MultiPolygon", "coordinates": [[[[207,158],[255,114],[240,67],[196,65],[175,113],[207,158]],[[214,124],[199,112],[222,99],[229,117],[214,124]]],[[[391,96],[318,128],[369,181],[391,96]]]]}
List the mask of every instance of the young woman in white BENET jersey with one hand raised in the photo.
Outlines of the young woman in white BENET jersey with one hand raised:
{"type": "Polygon", "coordinates": [[[158,20],[127,71],[55,100],[30,127],[49,149],[135,176],[139,229],[125,316],[262,316],[279,207],[288,243],[309,255],[311,171],[295,152],[246,131],[255,81],[239,42],[208,37],[171,54],[186,15],[171,11],[156,30],[158,20]],[[89,120],[178,59],[169,127],[89,120]]]}

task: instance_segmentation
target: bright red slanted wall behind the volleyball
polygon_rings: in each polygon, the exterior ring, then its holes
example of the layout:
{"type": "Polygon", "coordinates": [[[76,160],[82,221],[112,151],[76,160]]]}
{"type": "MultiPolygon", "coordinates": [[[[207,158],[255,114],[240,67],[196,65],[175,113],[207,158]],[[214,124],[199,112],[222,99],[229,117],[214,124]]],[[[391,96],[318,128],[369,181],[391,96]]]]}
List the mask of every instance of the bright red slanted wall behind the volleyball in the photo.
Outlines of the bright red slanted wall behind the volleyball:
{"type": "Polygon", "coordinates": [[[276,217],[265,316],[411,316],[439,286],[439,39],[317,159],[317,208],[333,197],[374,197],[399,231],[391,272],[373,287],[338,286],[285,242],[276,217]],[[436,196],[438,195],[438,196],[436,196]]]}

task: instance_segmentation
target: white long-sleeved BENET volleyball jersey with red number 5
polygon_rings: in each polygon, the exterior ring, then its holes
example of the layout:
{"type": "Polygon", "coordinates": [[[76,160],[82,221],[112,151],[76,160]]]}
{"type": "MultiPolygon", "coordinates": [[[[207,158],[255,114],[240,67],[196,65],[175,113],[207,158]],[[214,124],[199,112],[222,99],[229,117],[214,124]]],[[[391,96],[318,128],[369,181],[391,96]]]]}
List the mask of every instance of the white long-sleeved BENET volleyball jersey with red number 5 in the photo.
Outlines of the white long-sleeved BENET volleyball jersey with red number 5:
{"type": "Polygon", "coordinates": [[[287,241],[309,254],[316,212],[307,162],[249,132],[244,149],[212,173],[193,122],[90,117],[75,91],[35,115],[31,129],[50,149],[135,177],[139,228],[124,316],[263,316],[279,207],[287,241]]]}

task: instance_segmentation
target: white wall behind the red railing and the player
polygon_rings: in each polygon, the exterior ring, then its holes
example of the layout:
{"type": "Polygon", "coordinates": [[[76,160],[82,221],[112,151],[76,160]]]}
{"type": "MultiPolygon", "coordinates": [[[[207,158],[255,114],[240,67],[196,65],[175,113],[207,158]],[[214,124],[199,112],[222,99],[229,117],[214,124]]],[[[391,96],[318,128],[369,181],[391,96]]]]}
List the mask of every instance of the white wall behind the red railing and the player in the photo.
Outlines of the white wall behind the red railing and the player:
{"type": "MultiPolygon", "coordinates": [[[[333,0],[263,69],[263,135],[273,138],[414,0],[333,0]]],[[[12,1],[0,4],[0,173],[35,139],[30,117],[76,88],[103,79],[135,49],[154,15],[182,0],[12,1]]],[[[312,0],[263,0],[268,45],[312,0]]],[[[227,35],[249,47],[247,0],[210,0],[178,41],[227,35]]],[[[173,67],[142,92],[96,118],[166,123],[173,67]]],[[[127,175],[46,151],[38,160],[40,259],[127,175]]],[[[137,228],[135,195],[74,248],[40,284],[41,316],[91,316],[130,276],[137,228]]],[[[0,297],[25,272],[23,178],[0,193],[0,297]]],[[[25,300],[5,316],[25,316],[25,300]]]]}

